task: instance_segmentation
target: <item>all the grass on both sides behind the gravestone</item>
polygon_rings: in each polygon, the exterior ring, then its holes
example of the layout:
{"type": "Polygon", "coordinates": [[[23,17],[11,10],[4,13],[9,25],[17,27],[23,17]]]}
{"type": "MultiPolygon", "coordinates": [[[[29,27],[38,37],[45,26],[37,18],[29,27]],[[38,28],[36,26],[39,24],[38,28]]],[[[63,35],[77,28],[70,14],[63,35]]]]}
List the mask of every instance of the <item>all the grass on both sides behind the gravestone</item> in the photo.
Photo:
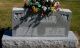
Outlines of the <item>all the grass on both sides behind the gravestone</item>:
{"type": "MultiPolygon", "coordinates": [[[[80,0],[58,0],[63,8],[72,11],[70,29],[80,32],[80,0]]],[[[23,0],[0,0],[0,28],[11,27],[12,7],[23,6],[23,0]]]]}

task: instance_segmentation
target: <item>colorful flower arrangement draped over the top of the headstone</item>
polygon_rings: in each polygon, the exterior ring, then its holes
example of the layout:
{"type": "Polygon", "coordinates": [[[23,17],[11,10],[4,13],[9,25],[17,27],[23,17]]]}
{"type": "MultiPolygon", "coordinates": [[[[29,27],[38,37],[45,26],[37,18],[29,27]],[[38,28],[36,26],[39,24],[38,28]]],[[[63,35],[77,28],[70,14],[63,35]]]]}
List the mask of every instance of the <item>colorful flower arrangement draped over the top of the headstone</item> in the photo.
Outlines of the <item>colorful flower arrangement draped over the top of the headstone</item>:
{"type": "Polygon", "coordinates": [[[50,12],[59,11],[61,5],[55,0],[24,0],[24,8],[28,8],[31,13],[45,16],[50,12]]]}

